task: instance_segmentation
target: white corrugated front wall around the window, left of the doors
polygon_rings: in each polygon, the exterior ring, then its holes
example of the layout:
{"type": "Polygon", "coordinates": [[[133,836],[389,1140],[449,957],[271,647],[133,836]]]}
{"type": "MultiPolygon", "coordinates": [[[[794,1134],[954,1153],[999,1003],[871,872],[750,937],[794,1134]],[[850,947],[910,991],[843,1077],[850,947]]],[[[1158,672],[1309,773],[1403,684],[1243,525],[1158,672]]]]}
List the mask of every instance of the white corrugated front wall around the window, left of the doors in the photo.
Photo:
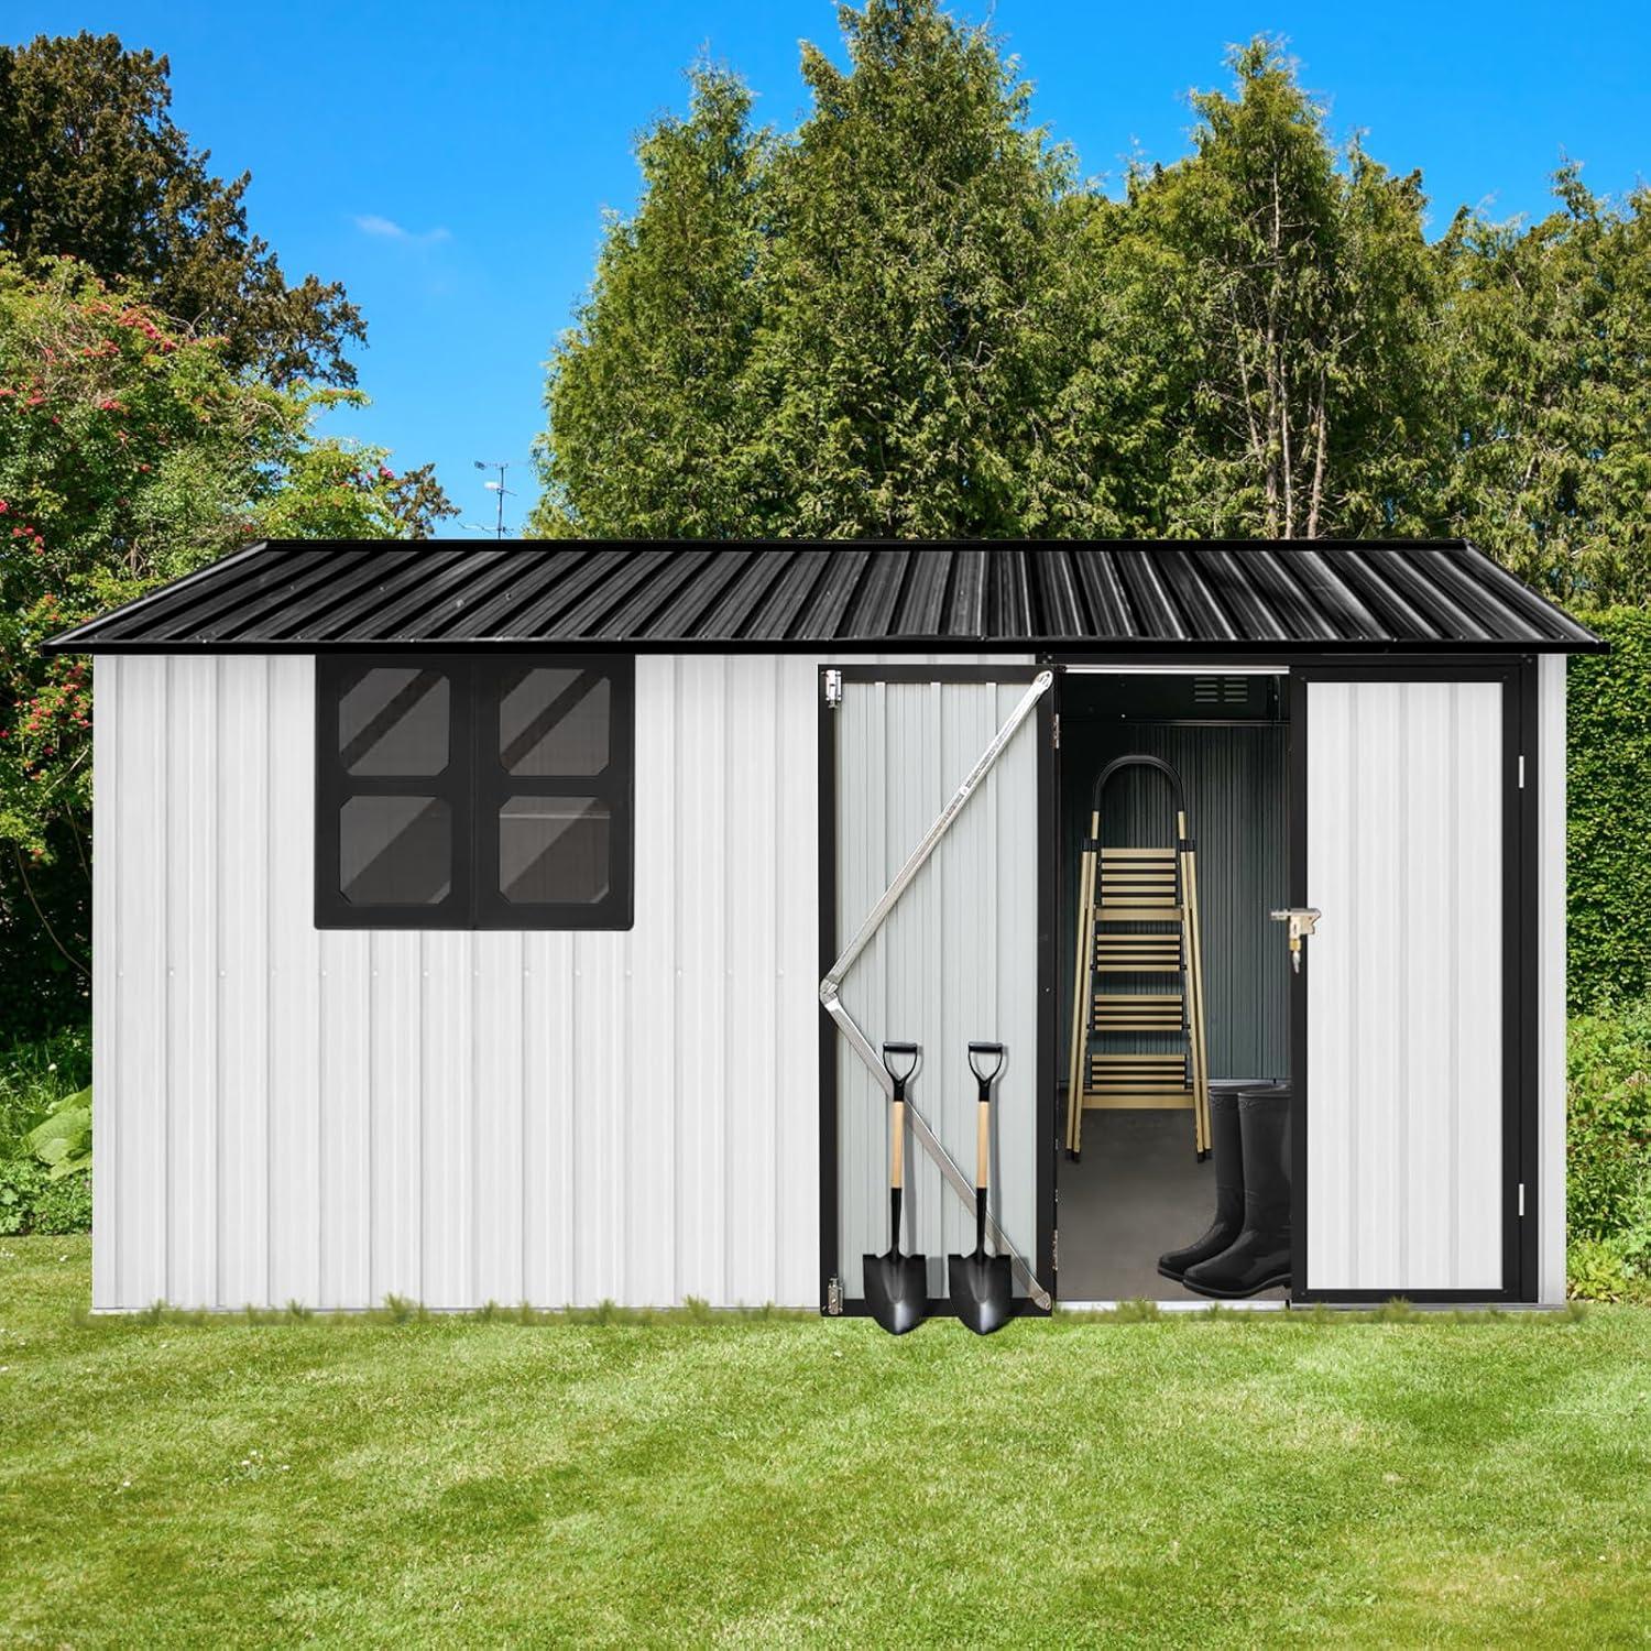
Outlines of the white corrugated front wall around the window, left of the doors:
{"type": "Polygon", "coordinates": [[[319,934],[312,660],[99,657],[94,1306],[814,1306],[817,672],[637,660],[631,933],[319,934]]]}

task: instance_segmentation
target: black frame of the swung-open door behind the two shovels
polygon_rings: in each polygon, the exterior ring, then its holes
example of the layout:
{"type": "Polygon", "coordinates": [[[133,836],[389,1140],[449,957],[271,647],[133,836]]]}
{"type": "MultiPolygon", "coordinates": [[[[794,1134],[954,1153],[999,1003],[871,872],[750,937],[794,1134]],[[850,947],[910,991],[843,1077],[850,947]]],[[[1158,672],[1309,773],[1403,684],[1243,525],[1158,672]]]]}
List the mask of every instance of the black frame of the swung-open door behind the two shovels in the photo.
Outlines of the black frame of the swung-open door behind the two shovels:
{"type": "MultiPolygon", "coordinates": [[[[842,949],[837,933],[837,708],[827,702],[826,674],[835,672],[847,687],[852,682],[953,682],[953,684],[1030,684],[1047,665],[835,665],[821,662],[817,667],[817,717],[819,717],[819,971],[824,977],[842,949]]],[[[1060,693],[1060,672],[1048,693],[1038,700],[1032,713],[1037,740],[1037,1101],[1035,1129],[1038,1139],[1050,1142],[1048,1151],[1035,1154],[1037,1164],[1037,1237],[1030,1256],[1037,1278],[1048,1286],[1052,1301],[1060,1299],[1055,1278],[1055,878],[1060,857],[1050,834],[1058,830],[1055,761],[1055,702],[1060,693]]],[[[837,1081],[842,1037],[826,1009],[819,1007],[819,1090],[821,1090],[821,1248],[819,1288],[821,1314],[826,1317],[865,1317],[870,1308],[863,1296],[844,1296],[837,1286],[842,1276],[839,1232],[839,1172],[837,1172],[837,1081]]],[[[1029,1296],[1015,1296],[1015,1313],[1030,1317],[1047,1317],[1052,1309],[1037,1306],[1029,1296]]],[[[951,1299],[931,1298],[930,1317],[949,1317],[951,1299]]]]}

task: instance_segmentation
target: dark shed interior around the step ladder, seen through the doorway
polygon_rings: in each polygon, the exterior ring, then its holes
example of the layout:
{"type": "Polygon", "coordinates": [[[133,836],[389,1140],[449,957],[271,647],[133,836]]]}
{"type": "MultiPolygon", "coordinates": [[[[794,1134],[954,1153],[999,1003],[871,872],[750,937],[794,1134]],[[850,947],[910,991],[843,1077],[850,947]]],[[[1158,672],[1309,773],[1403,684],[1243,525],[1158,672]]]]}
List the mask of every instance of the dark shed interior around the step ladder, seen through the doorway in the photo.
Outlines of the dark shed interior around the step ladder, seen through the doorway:
{"type": "MultiPolygon", "coordinates": [[[[1096,776],[1144,755],[1180,778],[1195,842],[1209,1076],[1289,1076],[1288,677],[1265,672],[1083,674],[1063,679],[1060,705],[1062,1123],[1071,1038],[1080,863],[1096,776]]],[[[1174,840],[1166,779],[1126,768],[1106,786],[1100,842],[1156,847],[1174,840]]],[[[1106,989],[1152,991],[1114,977],[1106,989]]],[[[1164,989],[1164,987],[1157,987],[1164,989]]],[[[1138,1034],[1093,1048],[1179,1052],[1184,1037],[1138,1034]]],[[[1088,1108],[1083,1151],[1060,1159],[1060,1294],[1065,1301],[1199,1299],[1164,1278],[1157,1258],[1204,1233],[1215,1209],[1215,1162],[1199,1162],[1187,1109],[1088,1108]]],[[[1283,1298],[1286,1291],[1268,1291],[1283,1298]]]]}

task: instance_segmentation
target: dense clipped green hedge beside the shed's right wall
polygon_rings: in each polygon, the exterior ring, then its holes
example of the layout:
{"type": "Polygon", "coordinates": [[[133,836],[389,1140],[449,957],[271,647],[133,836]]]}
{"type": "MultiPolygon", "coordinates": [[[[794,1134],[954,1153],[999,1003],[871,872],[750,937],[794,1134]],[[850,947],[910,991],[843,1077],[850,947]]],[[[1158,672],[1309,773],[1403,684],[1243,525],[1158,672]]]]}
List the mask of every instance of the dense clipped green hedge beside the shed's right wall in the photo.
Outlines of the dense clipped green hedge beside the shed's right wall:
{"type": "Polygon", "coordinates": [[[1570,662],[1572,1010],[1651,994],[1651,611],[1582,617],[1611,652],[1570,662]]]}

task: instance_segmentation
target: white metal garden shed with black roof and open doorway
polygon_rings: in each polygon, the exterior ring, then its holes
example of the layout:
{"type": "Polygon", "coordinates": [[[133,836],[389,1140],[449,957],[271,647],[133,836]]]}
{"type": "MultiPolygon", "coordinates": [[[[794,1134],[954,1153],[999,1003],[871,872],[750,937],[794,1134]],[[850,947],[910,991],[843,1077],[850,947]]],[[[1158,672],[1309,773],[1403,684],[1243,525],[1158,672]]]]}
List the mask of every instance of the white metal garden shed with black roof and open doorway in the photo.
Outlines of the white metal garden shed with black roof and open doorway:
{"type": "Polygon", "coordinates": [[[267,543],[50,646],[96,655],[99,1311],[860,1311],[890,1038],[941,1311],[977,1037],[1022,1308],[1141,1293],[1207,1166],[1144,1113],[1062,1152],[1119,751],[1185,784],[1209,1075],[1291,1085],[1288,1296],[1563,1294],[1600,644],[1471,545],[267,543]]]}

